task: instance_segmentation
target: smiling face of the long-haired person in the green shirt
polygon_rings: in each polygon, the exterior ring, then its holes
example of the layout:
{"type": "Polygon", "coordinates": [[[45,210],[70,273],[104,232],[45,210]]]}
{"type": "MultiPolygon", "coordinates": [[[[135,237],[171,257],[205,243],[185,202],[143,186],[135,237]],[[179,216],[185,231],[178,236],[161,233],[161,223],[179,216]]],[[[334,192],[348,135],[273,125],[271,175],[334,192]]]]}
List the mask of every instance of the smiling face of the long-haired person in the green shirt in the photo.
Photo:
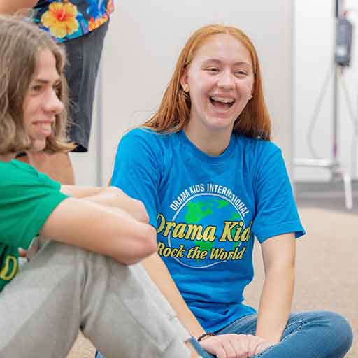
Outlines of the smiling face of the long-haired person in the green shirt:
{"type": "Polygon", "coordinates": [[[64,109],[57,94],[61,80],[56,60],[48,49],[38,53],[34,75],[22,103],[23,125],[32,142],[31,150],[43,150],[52,134],[56,115],[64,109]]]}

